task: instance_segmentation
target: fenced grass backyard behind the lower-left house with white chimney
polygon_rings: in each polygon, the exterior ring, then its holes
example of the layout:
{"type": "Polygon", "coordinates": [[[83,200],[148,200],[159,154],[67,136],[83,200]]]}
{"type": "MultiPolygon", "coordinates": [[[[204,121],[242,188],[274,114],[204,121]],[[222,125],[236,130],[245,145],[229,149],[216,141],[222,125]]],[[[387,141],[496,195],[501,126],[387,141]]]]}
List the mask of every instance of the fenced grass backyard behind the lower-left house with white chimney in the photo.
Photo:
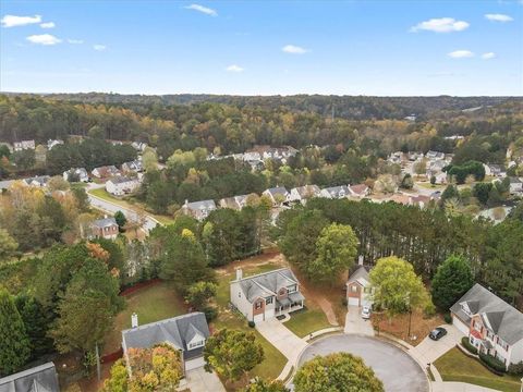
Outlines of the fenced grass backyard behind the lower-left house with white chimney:
{"type": "Polygon", "coordinates": [[[125,309],[114,320],[114,328],[107,335],[104,353],[112,353],[120,348],[121,331],[131,328],[131,315],[138,315],[138,323],[145,324],[153,321],[182,315],[186,311],[182,298],[175,293],[168,282],[141,289],[125,297],[125,309]]]}

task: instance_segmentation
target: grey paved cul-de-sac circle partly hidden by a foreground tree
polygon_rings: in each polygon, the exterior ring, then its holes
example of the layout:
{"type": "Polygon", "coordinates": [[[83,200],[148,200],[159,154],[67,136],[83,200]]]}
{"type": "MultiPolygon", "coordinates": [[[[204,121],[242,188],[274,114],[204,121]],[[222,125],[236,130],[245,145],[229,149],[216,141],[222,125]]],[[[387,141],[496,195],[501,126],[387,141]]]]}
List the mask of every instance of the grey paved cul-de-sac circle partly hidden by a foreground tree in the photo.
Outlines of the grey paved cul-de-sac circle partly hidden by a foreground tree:
{"type": "Polygon", "coordinates": [[[384,382],[387,392],[428,392],[428,379],[419,365],[404,351],[381,340],[361,335],[332,335],[312,343],[299,366],[316,355],[351,353],[363,358],[384,382]]]}

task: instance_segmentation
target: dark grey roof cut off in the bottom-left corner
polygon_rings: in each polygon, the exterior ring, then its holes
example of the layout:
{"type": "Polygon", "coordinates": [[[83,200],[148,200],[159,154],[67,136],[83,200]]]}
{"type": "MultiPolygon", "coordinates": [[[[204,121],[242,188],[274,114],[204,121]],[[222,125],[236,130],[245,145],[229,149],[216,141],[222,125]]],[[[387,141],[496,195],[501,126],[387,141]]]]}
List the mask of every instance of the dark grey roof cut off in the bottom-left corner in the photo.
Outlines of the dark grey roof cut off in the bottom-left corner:
{"type": "Polygon", "coordinates": [[[17,373],[0,378],[2,392],[59,392],[58,375],[54,364],[36,366],[17,373]]]}

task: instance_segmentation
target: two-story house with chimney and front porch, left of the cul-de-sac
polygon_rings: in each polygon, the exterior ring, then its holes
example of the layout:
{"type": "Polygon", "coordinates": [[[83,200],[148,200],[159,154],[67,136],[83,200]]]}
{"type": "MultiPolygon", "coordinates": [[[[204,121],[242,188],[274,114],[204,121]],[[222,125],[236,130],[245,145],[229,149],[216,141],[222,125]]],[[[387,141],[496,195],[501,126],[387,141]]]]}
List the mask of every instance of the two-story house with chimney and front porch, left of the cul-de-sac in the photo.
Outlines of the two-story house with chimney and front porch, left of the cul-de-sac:
{"type": "Polygon", "coordinates": [[[289,268],[243,278],[241,269],[230,283],[231,303],[247,320],[260,322],[303,308],[305,297],[289,268]]]}

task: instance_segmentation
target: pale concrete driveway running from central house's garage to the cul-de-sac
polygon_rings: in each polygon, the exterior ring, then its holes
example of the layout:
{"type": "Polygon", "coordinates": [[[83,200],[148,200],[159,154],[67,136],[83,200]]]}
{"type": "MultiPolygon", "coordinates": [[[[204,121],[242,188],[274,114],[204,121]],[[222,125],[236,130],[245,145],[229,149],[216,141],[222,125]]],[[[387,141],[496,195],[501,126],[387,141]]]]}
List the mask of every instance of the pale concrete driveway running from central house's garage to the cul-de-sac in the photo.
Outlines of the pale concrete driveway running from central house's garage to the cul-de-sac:
{"type": "Polygon", "coordinates": [[[276,318],[257,322],[256,329],[292,363],[307,345],[303,339],[297,338],[276,318]]]}

